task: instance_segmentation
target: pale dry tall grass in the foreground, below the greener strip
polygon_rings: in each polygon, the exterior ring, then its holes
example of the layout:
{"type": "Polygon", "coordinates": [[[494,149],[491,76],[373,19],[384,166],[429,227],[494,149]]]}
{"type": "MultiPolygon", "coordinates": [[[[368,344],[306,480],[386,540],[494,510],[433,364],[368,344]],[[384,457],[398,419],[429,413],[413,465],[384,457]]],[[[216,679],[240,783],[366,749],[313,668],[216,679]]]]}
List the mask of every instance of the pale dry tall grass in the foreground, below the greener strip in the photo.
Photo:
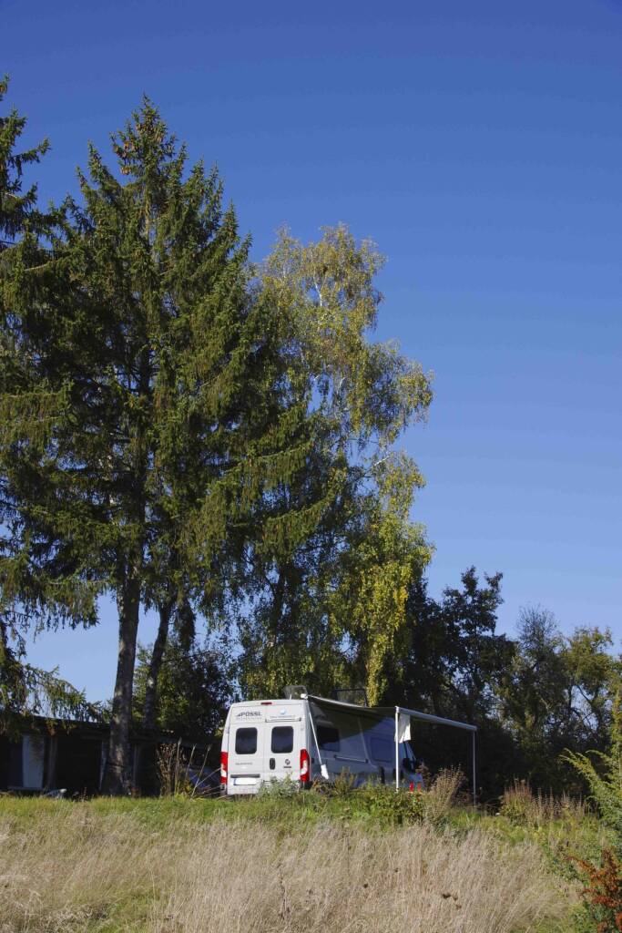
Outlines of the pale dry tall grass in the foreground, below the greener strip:
{"type": "Polygon", "coordinates": [[[574,897],[532,845],[426,826],[154,829],[59,801],[0,819],[0,853],[2,933],[514,933],[562,920],[574,897]]]}

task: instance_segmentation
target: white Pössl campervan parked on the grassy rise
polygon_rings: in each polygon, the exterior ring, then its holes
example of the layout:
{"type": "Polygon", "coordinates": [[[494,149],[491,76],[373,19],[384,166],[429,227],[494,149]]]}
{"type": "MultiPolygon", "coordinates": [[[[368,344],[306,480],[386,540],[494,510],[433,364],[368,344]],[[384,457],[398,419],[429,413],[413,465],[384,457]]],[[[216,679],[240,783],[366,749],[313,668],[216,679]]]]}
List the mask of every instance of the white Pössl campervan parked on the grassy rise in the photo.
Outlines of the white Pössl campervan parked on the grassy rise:
{"type": "Polygon", "coordinates": [[[346,771],[357,785],[413,781],[410,746],[406,741],[395,743],[394,709],[306,693],[293,699],[233,703],[223,733],[223,792],[255,794],[262,785],[287,778],[308,787],[316,778],[334,781],[346,771]]]}

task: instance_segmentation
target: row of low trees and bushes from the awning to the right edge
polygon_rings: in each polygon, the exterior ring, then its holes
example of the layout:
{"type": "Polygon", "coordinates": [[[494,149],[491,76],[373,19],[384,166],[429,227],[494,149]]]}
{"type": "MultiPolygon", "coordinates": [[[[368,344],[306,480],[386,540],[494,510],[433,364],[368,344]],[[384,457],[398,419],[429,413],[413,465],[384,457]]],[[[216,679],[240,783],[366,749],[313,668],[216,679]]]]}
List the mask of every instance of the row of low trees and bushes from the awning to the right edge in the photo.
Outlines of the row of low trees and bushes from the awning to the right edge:
{"type": "MultiPolygon", "coordinates": [[[[501,579],[480,582],[469,568],[462,587],[447,588],[439,600],[415,579],[384,701],[475,722],[483,800],[498,799],[515,776],[545,794],[580,793],[582,781],[560,755],[564,748],[607,750],[610,685],[620,671],[611,634],[582,626],[564,635],[538,607],[521,610],[516,640],[496,634],[501,579]]],[[[459,734],[441,745],[435,731],[418,725],[416,747],[433,770],[467,766],[459,734]]]]}

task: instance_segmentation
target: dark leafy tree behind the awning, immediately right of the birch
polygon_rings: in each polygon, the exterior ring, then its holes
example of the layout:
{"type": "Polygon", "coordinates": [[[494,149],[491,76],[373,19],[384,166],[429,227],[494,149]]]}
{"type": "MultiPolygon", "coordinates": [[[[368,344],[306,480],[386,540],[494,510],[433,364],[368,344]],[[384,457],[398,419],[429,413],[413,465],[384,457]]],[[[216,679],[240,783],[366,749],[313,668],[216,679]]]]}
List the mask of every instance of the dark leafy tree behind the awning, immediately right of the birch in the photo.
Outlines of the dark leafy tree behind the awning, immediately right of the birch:
{"type": "MultiPolygon", "coordinates": [[[[399,703],[437,716],[475,722],[477,780],[483,800],[503,791],[511,736],[493,718],[496,680],[511,655],[505,635],[496,634],[501,605],[501,575],[478,578],[475,567],[462,575],[461,587],[432,597],[423,578],[408,587],[401,644],[388,659],[383,703],[399,703]]],[[[414,747],[434,771],[454,765],[470,768],[470,750],[460,731],[417,723],[414,747]]],[[[513,773],[511,770],[509,773],[513,773]]]]}

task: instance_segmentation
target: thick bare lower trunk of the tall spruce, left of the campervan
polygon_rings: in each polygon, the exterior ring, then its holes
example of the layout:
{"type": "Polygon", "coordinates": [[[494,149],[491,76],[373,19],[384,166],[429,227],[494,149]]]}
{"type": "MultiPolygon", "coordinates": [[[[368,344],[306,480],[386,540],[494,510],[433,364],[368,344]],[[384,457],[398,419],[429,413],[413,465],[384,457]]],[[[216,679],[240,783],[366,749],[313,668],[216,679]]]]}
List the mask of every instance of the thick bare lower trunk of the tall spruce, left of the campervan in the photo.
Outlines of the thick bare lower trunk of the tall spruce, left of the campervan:
{"type": "Polygon", "coordinates": [[[110,741],[106,760],[104,794],[131,792],[131,694],[140,613],[140,576],[134,571],[117,594],[118,660],[112,701],[110,741]]]}

